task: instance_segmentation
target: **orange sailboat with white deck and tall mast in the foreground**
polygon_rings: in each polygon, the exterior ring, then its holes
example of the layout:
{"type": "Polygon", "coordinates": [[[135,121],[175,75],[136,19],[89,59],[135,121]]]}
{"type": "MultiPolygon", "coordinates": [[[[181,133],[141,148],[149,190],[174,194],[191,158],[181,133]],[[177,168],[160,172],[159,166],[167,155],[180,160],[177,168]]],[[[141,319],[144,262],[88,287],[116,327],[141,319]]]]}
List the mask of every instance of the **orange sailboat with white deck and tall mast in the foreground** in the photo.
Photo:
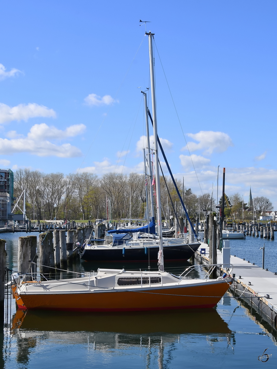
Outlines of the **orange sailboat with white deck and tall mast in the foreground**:
{"type": "Polygon", "coordinates": [[[12,291],[21,309],[68,311],[146,311],[214,307],[233,279],[209,279],[216,265],[201,279],[189,279],[195,265],[175,276],[164,271],[161,221],[160,175],[158,163],[157,118],[155,105],[153,34],[147,33],[150,56],[151,98],[153,107],[157,224],[159,237],[158,271],[98,269],[96,275],[38,282],[24,275],[12,275],[12,291]],[[27,280],[28,279],[28,280],[27,280]]]}

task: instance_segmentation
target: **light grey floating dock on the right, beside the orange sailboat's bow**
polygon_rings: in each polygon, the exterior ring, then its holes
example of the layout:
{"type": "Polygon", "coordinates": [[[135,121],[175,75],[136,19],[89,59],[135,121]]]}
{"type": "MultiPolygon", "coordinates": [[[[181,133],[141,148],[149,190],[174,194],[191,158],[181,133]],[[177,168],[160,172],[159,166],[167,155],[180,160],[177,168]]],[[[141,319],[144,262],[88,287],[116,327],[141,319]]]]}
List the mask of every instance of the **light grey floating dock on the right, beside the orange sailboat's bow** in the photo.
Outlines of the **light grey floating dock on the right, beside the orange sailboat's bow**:
{"type": "MultiPolygon", "coordinates": [[[[203,264],[209,264],[209,245],[201,242],[195,257],[203,264]],[[203,254],[205,249],[205,254],[203,254]]],[[[222,252],[217,250],[217,262],[222,263],[222,252]]],[[[236,297],[243,297],[275,330],[277,329],[277,273],[269,272],[249,261],[230,256],[234,266],[234,282],[230,289],[236,297]]],[[[217,274],[226,272],[218,268],[217,274]]]]}

